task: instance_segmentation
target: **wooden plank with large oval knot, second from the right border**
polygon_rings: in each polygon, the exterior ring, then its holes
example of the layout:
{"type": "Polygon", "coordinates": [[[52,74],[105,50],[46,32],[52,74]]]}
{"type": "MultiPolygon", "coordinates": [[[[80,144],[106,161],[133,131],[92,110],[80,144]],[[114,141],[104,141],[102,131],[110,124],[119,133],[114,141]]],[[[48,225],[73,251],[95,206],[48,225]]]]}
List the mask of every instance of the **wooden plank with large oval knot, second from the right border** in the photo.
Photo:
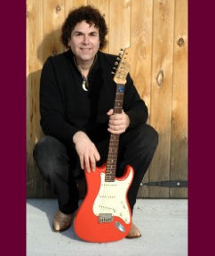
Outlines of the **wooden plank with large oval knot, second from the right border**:
{"type": "MultiPolygon", "coordinates": [[[[161,181],[170,178],[174,1],[155,0],[153,22],[150,123],[158,131],[160,137],[154,160],[149,168],[149,180],[161,181]]],[[[169,188],[150,186],[149,196],[168,198],[169,188]]]]}

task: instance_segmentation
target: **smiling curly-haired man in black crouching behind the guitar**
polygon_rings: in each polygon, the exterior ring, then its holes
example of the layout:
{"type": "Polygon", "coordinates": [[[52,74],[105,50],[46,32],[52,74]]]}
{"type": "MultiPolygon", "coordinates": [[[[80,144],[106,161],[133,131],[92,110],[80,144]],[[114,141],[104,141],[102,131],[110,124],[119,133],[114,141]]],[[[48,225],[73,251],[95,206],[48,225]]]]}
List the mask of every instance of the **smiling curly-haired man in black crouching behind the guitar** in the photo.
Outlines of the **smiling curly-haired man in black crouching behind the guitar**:
{"type": "MultiPolygon", "coordinates": [[[[128,192],[131,207],[139,184],[155,153],[158,135],[146,124],[147,106],[128,74],[123,111],[113,114],[116,56],[100,52],[107,45],[108,29],[99,10],[81,6],[68,14],[61,42],[68,48],[44,63],[40,87],[41,126],[44,137],[34,158],[39,171],[57,195],[59,210],[52,226],[63,231],[71,226],[78,209],[76,178],[96,171],[107,161],[110,134],[120,135],[116,176],[127,164],[134,169],[128,192]]],[[[132,224],[128,238],[139,237],[132,224]]]]}

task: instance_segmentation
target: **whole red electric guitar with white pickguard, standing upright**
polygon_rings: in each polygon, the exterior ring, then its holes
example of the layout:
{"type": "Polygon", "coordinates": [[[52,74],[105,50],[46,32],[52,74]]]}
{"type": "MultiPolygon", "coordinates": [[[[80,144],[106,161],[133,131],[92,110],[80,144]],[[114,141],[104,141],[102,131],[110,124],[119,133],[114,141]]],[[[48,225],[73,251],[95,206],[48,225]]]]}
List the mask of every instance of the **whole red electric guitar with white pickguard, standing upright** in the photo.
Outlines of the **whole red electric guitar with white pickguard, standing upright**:
{"type": "MultiPolygon", "coordinates": [[[[115,71],[114,113],[123,110],[126,77],[130,70],[129,48],[123,51],[115,71]]],[[[117,63],[116,63],[117,64],[117,63]]],[[[107,163],[85,173],[87,193],[74,219],[76,235],[88,242],[106,243],[123,239],[131,229],[131,209],[127,192],[133,169],[126,166],[123,177],[115,178],[119,135],[110,135],[107,163]]]]}

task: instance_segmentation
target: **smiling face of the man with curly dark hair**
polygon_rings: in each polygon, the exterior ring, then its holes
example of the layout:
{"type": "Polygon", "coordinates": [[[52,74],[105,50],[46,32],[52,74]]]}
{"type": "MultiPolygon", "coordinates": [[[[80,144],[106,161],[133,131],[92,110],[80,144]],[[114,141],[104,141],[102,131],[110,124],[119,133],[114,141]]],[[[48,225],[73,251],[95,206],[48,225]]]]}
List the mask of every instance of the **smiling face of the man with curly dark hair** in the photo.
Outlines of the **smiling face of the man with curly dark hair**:
{"type": "Polygon", "coordinates": [[[76,62],[93,62],[100,48],[99,29],[86,21],[77,23],[68,39],[68,46],[76,55],[76,62]]]}

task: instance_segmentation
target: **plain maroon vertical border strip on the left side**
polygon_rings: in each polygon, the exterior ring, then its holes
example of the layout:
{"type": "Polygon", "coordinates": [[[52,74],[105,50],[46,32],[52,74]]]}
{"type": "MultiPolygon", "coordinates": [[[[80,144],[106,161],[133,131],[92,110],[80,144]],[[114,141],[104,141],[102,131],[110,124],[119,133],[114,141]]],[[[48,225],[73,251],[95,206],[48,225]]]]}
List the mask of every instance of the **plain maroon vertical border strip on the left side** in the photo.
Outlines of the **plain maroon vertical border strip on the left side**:
{"type": "Polygon", "coordinates": [[[26,254],[26,3],[1,4],[1,254],[26,254]]]}

